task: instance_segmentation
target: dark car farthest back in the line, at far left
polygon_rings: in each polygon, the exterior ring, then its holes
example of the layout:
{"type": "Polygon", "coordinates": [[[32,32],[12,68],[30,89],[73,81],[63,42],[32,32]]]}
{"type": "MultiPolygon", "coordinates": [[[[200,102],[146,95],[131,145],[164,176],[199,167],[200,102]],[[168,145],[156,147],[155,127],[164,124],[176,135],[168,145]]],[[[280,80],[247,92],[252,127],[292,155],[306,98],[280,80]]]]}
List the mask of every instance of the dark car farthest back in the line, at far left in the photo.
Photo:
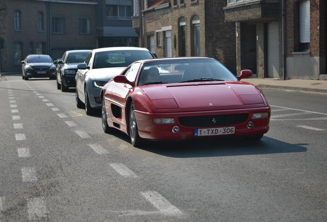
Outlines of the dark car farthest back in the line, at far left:
{"type": "Polygon", "coordinates": [[[56,79],[56,66],[49,55],[30,54],[22,61],[22,79],[56,79]]]}

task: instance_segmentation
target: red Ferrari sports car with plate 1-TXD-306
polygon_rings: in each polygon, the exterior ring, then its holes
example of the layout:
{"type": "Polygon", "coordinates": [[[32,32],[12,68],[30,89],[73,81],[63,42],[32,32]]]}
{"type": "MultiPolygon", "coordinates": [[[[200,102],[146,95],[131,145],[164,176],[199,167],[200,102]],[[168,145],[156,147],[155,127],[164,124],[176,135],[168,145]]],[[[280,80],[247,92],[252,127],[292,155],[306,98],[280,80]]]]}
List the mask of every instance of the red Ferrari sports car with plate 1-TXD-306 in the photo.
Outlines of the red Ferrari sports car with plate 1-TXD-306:
{"type": "Polygon", "coordinates": [[[101,90],[102,127],[116,128],[134,146],[144,139],[212,136],[261,139],[270,107],[256,86],[240,82],[211,58],[168,58],[131,64],[101,90]]]}

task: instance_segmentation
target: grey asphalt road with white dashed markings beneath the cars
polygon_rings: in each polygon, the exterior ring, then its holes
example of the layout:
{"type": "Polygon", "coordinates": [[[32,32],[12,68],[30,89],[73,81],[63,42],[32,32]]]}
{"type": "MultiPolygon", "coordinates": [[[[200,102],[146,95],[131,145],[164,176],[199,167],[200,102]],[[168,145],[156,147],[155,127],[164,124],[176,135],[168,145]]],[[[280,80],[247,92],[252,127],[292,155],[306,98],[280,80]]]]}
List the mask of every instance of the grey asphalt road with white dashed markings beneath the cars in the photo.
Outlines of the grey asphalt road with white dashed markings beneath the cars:
{"type": "Polygon", "coordinates": [[[264,90],[261,141],[104,134],[55,80],[0,81],[0,221],[327,221],[327,96],[264,90]]]}

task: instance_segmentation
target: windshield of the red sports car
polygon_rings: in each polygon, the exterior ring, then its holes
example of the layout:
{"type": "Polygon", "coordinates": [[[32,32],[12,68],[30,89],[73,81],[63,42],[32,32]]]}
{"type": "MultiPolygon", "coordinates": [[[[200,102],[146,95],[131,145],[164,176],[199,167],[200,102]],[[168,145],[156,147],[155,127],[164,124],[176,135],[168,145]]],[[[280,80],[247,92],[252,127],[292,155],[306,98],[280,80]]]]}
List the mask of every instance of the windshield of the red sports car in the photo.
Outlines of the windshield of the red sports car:
{"type": "Polygon", "coordinates": [[[145,63],[138,85],[237,81],[237,78],[216,60],[183,60],[145,63]]]}

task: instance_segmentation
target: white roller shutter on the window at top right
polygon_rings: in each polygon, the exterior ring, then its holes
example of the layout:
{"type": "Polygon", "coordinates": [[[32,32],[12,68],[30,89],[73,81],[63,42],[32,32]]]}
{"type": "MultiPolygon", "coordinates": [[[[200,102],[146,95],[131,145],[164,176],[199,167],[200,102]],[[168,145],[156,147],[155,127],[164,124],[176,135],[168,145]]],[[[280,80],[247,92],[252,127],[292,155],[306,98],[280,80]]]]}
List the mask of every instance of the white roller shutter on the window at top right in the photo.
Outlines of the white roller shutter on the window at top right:
{"type": "Polygon", "coordinates": [[[300,43],[310,43],[310,0],[300,2],[300,43]]]}

